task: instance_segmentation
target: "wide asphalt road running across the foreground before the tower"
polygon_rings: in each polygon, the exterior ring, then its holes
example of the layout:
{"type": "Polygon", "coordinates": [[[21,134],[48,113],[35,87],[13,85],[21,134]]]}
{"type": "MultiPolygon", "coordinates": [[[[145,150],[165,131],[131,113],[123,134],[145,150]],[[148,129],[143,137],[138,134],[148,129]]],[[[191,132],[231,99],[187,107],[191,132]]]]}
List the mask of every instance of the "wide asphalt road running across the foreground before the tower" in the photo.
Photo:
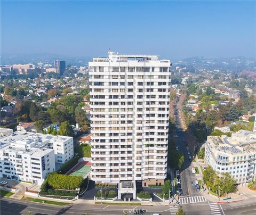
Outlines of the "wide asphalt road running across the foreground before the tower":
{"type": "MultiPolygon", "coordinates": [[[[242,208],[242,205],[230,207],[229,205],[223,205],[225,207],[225,214],[255,214],[255,205],[251,203],[246,205],[246,209],[242,208]],[[239,208],[241,208],[239,210],[239,208]],[[246,212],[243,212],[246,211],[246,212]],[[254,213],[252,213],[254,212],[254,213]]],[[[210,215],[210,206],[208,202],[204,203],[194,203],[181,205],[185,214],[190,215],[210,215]]],[[[111,214],[111,215],[123,215],[124,211],[130,212],[128,214],[133,214],[136,209],[146,209],[146,215],[153,213],[161,213],[162,215],[170,215],[170,209],[172,206],[144,206],[144,205],[106,205],[106,204],[71,204],[68,206],[54,206],[47,204],[40,204],[27,201],[18,201],[8,198],[1,199],[1,214],[28,214],[29,212],[33,215],[35,214],[86,214],[99,215],[99,214],[111,214]],[[130,211],[129,211],[130,209],[130,211]]],[[[222,215],[224,215],[221,212],[222,215]]]]}

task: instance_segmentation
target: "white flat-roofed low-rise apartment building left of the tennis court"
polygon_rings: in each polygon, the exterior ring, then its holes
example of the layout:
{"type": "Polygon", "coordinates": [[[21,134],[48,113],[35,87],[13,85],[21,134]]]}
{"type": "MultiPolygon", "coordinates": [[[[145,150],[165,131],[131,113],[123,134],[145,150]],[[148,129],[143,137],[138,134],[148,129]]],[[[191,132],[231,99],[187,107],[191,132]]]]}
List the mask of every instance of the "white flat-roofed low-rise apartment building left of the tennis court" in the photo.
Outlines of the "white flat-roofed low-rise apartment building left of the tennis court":
{"type": "Polygon", "coordinates": [[[16,131],[0,138],[0,177],[41,185],[73,155],[73,137],[16,131]]]}

